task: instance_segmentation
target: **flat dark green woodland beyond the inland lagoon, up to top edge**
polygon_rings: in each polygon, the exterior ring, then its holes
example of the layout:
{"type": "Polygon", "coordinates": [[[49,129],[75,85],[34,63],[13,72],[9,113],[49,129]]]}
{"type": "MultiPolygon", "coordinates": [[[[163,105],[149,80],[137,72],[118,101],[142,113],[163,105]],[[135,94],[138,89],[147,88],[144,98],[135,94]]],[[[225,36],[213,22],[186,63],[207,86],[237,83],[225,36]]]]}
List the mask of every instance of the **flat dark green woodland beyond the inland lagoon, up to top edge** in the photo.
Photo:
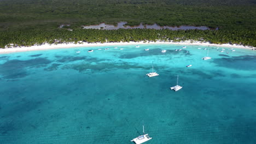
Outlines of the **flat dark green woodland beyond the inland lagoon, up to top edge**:
{"type": "Polygon", "coordinates": [[[2,0],[0,8],[0,31],[120,21],[127,21],[127,25],[144,22],[255,31],[256,23],[251,0],[2,0]]]}

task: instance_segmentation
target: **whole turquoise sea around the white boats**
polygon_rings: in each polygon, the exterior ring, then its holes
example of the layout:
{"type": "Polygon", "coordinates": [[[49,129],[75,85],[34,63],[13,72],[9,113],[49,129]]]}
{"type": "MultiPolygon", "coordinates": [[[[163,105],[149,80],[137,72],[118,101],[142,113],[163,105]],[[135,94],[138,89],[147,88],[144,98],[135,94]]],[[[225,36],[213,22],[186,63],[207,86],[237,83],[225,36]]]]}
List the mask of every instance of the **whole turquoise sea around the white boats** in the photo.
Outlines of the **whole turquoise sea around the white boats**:
{"type": "Polygon", "coordinates": [[[0,55],[0,143],[256,143],[256,51],[114,47],[0,55]]]}

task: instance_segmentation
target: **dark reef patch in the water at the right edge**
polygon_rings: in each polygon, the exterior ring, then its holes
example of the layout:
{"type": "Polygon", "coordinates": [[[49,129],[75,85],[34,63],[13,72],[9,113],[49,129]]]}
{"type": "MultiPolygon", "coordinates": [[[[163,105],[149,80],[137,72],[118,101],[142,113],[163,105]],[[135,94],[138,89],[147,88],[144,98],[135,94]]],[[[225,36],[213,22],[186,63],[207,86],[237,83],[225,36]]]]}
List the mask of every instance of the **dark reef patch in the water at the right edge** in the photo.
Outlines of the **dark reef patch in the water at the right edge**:
{"type": "Polygon", "coordinates": [[[256,70],[256,56],[237,56],[213,59],[219,67],[238,70],[256,70]]]}

